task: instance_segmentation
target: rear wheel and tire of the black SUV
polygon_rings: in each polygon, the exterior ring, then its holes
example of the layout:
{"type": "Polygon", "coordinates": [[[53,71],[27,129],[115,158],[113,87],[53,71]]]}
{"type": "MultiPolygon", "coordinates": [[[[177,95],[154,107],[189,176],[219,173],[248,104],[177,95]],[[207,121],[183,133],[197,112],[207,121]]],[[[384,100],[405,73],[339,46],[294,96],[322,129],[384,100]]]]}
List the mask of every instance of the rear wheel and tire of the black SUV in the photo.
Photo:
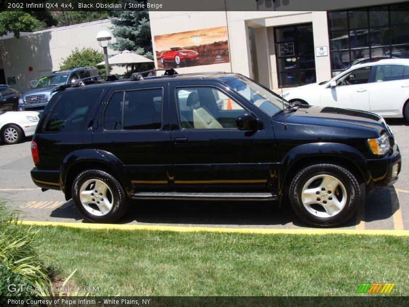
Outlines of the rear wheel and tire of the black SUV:
{"type": "MultiPolygon", "coordinates": [[[[118,180],[111,176],[111,174],[107,173],[106,171],[99,170],[99,169],[86,169],[78,174],[78,176],[74,179],[74,183],[72,186],[72,195],[73,201],[77,209],[86,216],[89,221],[96,222],[96,223],[113,223],[118,221],[126,212],[129,205],[129,200],[126,198],[126,193],[124,188],[118,182],[118,180]],[[93,186],[92,181],[96,183],[93,186]],[[87,184],[88,182],[88,184],[87,184]],[[97,193],[96,185],[102,184],[107,186],[107,191],[100,196],[100,193],[103,192],[99,191],[97,193]],[[92,204],[83,204],[80,199],[81,190],[83,192],[92,192],[92,204]],[[106,199],[104,200],[103,197],[106,199]],[[100,205],[105,201],[107,203],[111,203],[111,208],[109,206],[104,206],[107,208],[106,212],[100,209],[100,205]]],[[[85,203],[85,202],[84,202],[85,203]]]]}

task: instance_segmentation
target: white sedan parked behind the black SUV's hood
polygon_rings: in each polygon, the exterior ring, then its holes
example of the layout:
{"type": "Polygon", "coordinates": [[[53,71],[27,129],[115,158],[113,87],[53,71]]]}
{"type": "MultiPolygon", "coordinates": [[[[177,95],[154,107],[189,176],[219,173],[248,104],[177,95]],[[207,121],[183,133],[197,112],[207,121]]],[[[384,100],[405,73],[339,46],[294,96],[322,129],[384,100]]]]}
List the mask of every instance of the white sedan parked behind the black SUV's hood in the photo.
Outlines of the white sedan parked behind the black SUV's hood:
{"type": "Polygon", "coordinates": [[[371,111],[409,121],[409,59],[357,64],[329,81],[284,93],[290,102],[371,111]]]}

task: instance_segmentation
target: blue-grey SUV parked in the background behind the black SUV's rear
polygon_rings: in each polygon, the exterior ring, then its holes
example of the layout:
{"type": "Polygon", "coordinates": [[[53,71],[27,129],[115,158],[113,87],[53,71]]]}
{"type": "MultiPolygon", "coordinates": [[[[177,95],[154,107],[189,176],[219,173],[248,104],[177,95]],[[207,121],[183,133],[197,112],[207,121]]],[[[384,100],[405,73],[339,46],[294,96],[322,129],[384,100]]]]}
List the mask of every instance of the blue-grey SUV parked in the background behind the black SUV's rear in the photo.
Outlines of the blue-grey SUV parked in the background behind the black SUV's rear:
{"type": "MultiPolygon", "coordinates": [[[[68,84],[80,78],[98,77],[100,71],[95,67],[80,67],[72,70],[55,71],[40,78],[34,89],[21,95],[18,99],[18,111],[42,112],[50,101],[57,86],[68,84]]],[[[93,80],[88,80],[88,83],[93,80]]]]}

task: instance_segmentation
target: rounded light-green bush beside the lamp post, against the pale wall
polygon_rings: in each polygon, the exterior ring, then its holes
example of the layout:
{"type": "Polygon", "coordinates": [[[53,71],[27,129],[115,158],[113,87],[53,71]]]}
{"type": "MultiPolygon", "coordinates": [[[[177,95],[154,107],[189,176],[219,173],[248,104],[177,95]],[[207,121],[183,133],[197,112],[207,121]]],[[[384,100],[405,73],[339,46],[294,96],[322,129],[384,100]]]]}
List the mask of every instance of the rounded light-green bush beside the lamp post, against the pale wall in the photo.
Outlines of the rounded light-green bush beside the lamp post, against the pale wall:
{"type": "MultiPolygon", "coordinates": [[[[60,70],[69,70],[77,67],[96,66],[97,63],[104,60],[104,54],[93,48],[85,48],[79,50],[75,48],[69,56],[62,59],[60,70]]],[[[105,69],[102,69],[101,74],[105,75],[105,69]]]]}

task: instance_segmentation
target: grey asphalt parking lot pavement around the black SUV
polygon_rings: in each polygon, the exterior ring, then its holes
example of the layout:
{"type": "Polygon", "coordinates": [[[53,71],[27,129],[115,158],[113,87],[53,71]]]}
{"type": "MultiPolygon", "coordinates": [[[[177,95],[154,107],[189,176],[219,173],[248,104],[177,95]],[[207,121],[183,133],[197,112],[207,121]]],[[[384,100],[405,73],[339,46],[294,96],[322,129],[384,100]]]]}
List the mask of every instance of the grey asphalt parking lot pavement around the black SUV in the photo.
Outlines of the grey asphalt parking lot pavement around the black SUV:
{"type": "MultiPolygon", "coordinates": [[[[409,230],[409,124],[389,119],[402,155],[402,171],[391,187],[374,191],[343,229],[409,230]]],[[[30,138],[15,145],[0,143],[0,199],[21,212],[25,221],[86,223],[72,200],[60,191],[41,192],[31,180],[34,164],[30,138]]],[[[138,201],[119,223],[232,228],[308,228],[277,202],[138,201]]]]}

